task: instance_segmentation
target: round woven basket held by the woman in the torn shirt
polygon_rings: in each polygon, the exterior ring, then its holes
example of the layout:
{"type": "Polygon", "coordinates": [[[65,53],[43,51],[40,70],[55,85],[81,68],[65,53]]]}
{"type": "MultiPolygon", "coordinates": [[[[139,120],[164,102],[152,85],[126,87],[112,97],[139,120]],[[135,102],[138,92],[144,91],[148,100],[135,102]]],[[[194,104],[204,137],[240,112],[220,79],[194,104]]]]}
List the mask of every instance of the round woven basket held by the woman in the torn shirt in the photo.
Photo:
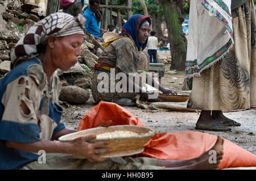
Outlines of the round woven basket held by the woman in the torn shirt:
{"type": "MultiPolygon", "coordinates": [[[[61,142],[67,142],[72,141],[75,138],[85,136],[86,134],[102,134],[105,132],[114,132],[114,131],[131,131],[138,134],[143,134],[151,131],[150,134],[144,134],[139,136],[130,136],[130,137],[117,137],[117,138],[96,138],[90,142],[98,142],[98,141],[109,141],[109,145],[106,145],[105,147],[112,148],[112,151],[109,153],[103,153],[99,154],[100,157],[103,158],[110,158],[110,157],[123,157],[123,156],[129,156],[134,154],[142,153],[144,144],[147,143],[154,135],[155,131],[152,131],[151,129],[148,129],[146,127],[139,127],[135,125],[118,125],[118,126],[112,126],[108,128],[104,127],[97,127],[92,129],[85,129],[84,131],[79,131],[76,133],[67,134],[65,136],[61,136],[59,138],[59,141],[61,142]]],[[[73,155],[75,158],[81,158],[77,157],[76,155],[73,155]]]]}

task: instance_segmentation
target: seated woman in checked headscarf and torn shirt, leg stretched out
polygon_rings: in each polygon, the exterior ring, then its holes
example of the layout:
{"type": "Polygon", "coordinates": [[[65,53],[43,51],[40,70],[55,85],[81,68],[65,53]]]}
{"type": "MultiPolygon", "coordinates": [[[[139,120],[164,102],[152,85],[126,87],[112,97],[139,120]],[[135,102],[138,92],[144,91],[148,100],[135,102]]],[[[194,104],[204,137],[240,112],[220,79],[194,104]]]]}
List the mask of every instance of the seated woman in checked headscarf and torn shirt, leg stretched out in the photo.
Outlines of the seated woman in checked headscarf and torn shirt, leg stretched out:
{"type": "Polygon", "coordinates": [[[63,108],[58,104],[55,70],[76,64],[84,21],[82,15],[51,14],[32,26],[11,52],[11,71],[0,83],[0,169],[217,169],[223,155],[220,137],[212,148],[217,151],[213,164],[205,159],[207,152],[185,161],[101,158],[97,154],[110,151],[102,148],[108,142],[88,142],[96,138],[93,134],[71,142],[54,141],[75,132],[60,123],[63,108]]]}

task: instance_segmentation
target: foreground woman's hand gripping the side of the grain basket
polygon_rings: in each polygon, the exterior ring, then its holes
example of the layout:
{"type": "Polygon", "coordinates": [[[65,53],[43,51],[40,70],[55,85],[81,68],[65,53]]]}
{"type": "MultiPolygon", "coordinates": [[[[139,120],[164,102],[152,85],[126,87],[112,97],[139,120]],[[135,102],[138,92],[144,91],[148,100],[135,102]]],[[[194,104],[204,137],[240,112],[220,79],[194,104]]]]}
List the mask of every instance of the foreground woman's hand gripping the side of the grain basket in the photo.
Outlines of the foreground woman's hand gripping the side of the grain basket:
{"type": "Polygon", "coordinates": [[[103,148],[102,146],[108,145],[109,141],[99,141],[96,143],[90,143],[88,141],[96,138],[94,134],[88,134],[84,137],[76,138],[71,141],[71,154],[81,157],[86,157],[90,162],[105,161],[106,158],[101,158],[97,154],[107,153],[111,151],[111,148],[103,148]]]}

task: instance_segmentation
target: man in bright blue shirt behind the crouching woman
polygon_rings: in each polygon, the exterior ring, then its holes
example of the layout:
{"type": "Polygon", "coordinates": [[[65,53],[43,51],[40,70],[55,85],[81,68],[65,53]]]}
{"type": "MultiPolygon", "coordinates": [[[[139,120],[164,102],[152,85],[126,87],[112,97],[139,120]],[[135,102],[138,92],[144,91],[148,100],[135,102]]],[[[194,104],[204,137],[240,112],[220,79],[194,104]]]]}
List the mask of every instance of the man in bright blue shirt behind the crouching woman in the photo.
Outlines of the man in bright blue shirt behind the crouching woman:
{"type": "Polygon", "coordinates": [[[104,39],[101,38],[101,32],[105,33],[106,30],[100,28],[101,14],[98,11],[100,7],[99,0],[90,0],[89,6],[86,7],[84,11],[84,17],[86,19],[85,27],[86,34],[91,36],[93,35],[95,39],[104,42],[104,39]]]}

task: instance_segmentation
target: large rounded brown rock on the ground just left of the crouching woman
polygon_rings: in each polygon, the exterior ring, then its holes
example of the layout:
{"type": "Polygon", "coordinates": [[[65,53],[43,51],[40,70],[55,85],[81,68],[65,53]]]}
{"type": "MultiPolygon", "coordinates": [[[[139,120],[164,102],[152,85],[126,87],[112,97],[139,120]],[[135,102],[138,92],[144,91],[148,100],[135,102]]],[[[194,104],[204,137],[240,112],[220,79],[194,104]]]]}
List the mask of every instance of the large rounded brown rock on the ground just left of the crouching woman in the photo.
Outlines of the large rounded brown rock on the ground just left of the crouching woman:
{"type": "Polygon", "coordinates": [[[59,100],[69,104],[85,104],[89,99],[89,92],[77,86],[64,86],[60,89],[59,100]]]}

